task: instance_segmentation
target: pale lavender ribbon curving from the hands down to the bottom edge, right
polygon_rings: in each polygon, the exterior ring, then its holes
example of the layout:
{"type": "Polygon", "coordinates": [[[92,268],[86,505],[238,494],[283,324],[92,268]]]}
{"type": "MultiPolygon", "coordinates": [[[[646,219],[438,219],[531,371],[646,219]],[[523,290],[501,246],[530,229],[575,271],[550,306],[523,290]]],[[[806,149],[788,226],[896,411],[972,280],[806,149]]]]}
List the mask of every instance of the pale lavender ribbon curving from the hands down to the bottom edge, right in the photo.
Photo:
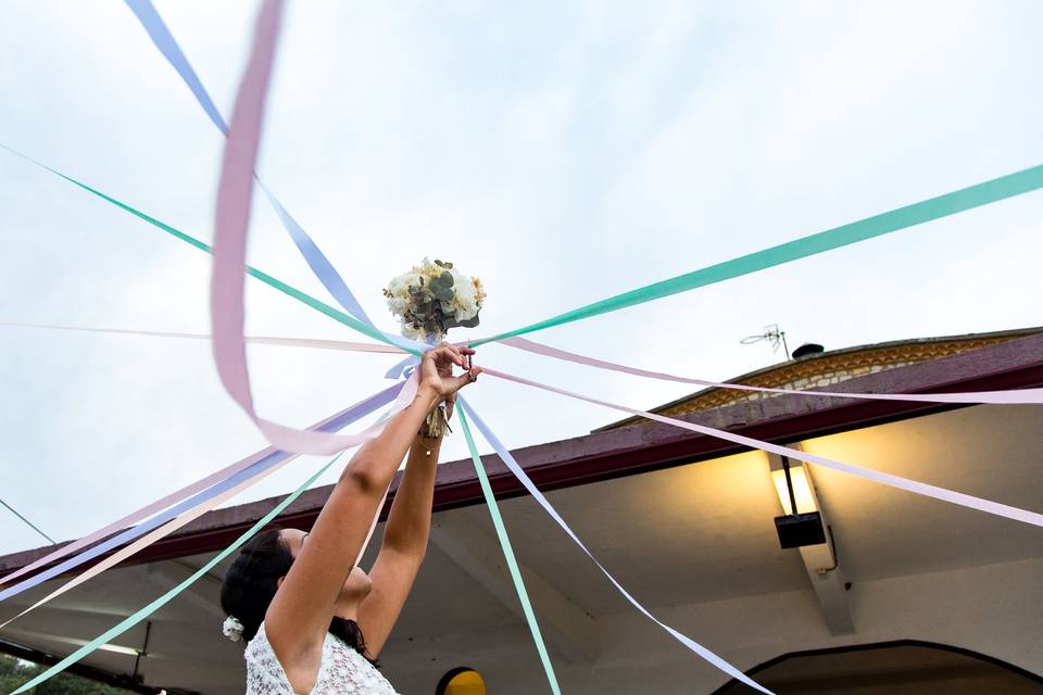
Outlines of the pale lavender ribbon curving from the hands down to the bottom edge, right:
{"type": "MultiPolygon", "coordinates": [[[[488,371],[488,369],[486,369],[486,371],[488,371]]],[[[725,659],[720,658],[719,656],[717,656],[716,654],[714,654],[713,652],[711,652],[700,643],[695,642],[694,640],[692,640],[691,637],[684,634],[681,634],[680,632],[669,627],[668,624],[662,622],[658,618],[653,616],[644,606],[642,606],[637,598],[631,596],[630,592],[624,589],[623,584],[616,581],[616,578],[613,577],[607,569],[605,569],[604,565],[598,561],[598,558],[595,558],[593,554],[590,552],[590,549],[587,548],[587,545],[579,540],[579,536],[576,535],[576,533],[571,530],[571,528],[569,528],[569,526],[565,522],[565,519],[561,517],[561,515],[553,507],[553,505],[551,505],[551,503],[543,495],[543,493],[540,492],[540,489],[536,486],[536,483],[533,483],[532,480],[528,477],[528,475],[525,472],[525,469],[523,469],[522,466],[518,465],[518,462],[514,459],[514,456],[512,456],[511,452],[507,451],[507,447],[503,445],[503,442],[501,442],[497,438],[497,435],[492,433],[492,430],[489,429],[489,426],[486,425],[480,417],[478,417],[478,414],[475,413],[474,408],[470,407],[470,404],[467,403],[466,399],[464,399],[464,396],[461,395],[457,397],[457,403],[460,404],[462,413],[466,413],[467,416],[469,416],[470,419],[475,421],[475,427],[477,427],[478,431],[481,432],[481,435],[486,438],[486,441],[489,442],[493,451],[497,452],[497,455],[500,456],[500,459],[503,460],[507,469],[512,473],[514,473],[515,478],[517,478],[518,481],[525,486],[525,489],[529,491],[529,494],[532,495],[532,497],[537,501],[537,503],[539,503],[539,505],[543,507],[543,509],[551,516],[551,518],[554,519],[554,521],[556,521],[560,527],[562,527],[562,530],[565,531],[565,533],[567,533],[570,539],[573,539],[573,542],[576,543],[576,545],[578,545],[579,548],[587,554],[587,557],[589,557],[594,563],[594,565],[598,566],[598,569],[600,569],[602,573],[608,578],[608,581],[612,582],[613,586],[616,587],[616,590],[623,595],[624,598],[626,598],[630,603],[631,606],[637,608],[644,617],[646,617],[649,620],[651,620],[655,624],[666,630],[670,634],[670,636],[673,636],[675,640],[683,644],[686,647],[688,647],[689,649],[698,654],[700,657],[702,657],[705,661],[707,661],[715,668],[724,671],[725,673],[736,679],[737,681],[745,683],[750,687],[761,693],[765,693],[766,695],[774,695],[771,691],[764,687],[756,681],[752,680],[745,673],[743,673],[742,671],[737,669],[734,666],[732,666],[725,659]]]]}

